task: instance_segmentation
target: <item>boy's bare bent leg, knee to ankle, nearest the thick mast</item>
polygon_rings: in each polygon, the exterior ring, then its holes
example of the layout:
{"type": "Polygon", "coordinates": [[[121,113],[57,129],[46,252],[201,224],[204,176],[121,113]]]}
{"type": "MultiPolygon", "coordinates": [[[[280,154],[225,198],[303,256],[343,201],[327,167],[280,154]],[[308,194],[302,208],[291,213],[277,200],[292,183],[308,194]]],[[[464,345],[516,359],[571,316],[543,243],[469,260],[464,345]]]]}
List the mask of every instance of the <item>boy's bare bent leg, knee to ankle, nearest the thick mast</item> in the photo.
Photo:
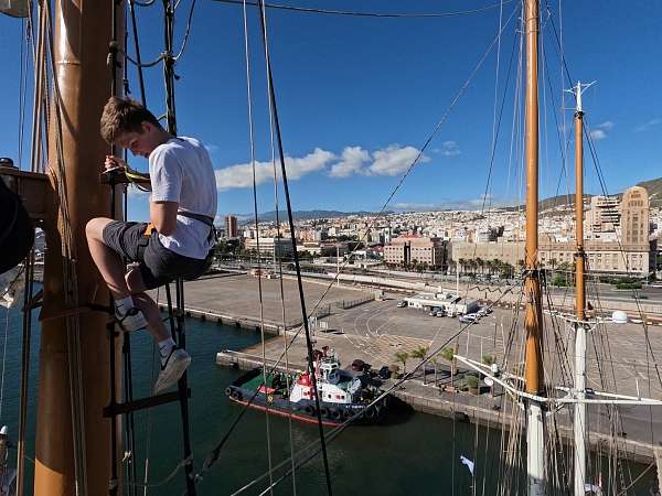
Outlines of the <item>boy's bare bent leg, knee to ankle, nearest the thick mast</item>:
{"type": "Polygon", "coordinates": [[[102,272],[113,298],[121,300],[129,295],[125,281],[125,263],[120,255],[104,242],[104,228],[113,222],[111,218],[93,218],[85,226],[85,234],[92,259],[102,272]]]}

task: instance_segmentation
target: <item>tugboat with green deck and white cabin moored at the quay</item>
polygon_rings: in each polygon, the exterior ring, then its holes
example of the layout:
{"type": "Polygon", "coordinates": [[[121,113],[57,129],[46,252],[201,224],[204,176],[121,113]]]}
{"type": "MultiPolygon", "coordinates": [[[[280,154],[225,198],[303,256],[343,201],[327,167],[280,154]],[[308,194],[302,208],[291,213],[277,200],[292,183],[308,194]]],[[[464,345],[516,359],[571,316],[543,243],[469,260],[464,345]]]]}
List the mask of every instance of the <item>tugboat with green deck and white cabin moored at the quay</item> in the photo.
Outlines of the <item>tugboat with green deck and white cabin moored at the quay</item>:
{"type": "MultiPolygon", "coordinates": [[[[314,351],[313,365],[320,393],[320,413],[323,425],[337,425],[355,413],[361,413],[353,423],[373,424],[384,421],[388,412],[388,396],[366,408],[382,393],[380,381],[364,370],[343,370],[335,353],[314,351]]],[[[267,374],[264,381],[263,368],[255,368],[232,382],[227,397],[237,403],[257,410],[291,417],[302,422],[318,421],[314,390],[310,371],[302,374],[267,374]]]]}

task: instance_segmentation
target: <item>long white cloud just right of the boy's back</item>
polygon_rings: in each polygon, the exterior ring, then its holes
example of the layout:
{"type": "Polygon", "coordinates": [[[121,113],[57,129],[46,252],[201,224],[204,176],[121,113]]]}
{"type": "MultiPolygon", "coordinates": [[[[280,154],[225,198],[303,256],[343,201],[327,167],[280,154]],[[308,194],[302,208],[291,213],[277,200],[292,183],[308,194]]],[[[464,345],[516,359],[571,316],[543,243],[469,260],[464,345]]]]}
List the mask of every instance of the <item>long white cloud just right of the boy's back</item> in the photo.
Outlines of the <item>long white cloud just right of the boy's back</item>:
{"type": "MultiPolygon", "coordinates": [[[[316,148],[312,153],[301,158],[285,158],[287,179],[296,181],[306,174],[324,169],[335,155],[329,151],[316,148]]],[[[280,175],[280,165],[276,164],[277,176],[280,175]]],[[[250,163],[238,163],[215,171],[216,187],[220,191],[252,187],[253,166],[250,163]]],[[[274,165],[271,162],[255,162],[255,182],[257,185],[271,181],[274,177],[274,165]]]]}

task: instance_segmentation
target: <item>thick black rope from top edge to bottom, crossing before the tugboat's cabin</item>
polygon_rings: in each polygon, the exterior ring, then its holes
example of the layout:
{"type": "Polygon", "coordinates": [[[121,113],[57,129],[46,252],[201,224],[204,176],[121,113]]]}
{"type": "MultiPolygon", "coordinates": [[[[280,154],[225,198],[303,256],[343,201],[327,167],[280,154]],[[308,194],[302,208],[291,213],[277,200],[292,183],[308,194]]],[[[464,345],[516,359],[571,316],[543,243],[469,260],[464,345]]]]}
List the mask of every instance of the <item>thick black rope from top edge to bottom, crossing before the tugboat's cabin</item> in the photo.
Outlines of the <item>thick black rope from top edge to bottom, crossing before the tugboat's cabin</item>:
{"type": "Polygon", "coordinates": [[[320,444],[322,451],[322,460],[324,463],[324,477],[327,482],[327,494],[332,496],[333,490],[331,488],[331,472],[329,470],[329,456],[327,453],[327,441],[324,439],[324,428],[322,427],[322,413],[320,409],[320,398],[319,398],[319,389],[317,385],[316,369],[313,364],[313,349],[312,349],[312,339],[310,336],[310,328],[308,325],[308,312],[306,311],[306,298],[303,295],[303,283],[301,280],[301,267],[299,265],[299,254],[297,252],[297,238],[295,230],[295,219],[292,216],[292,206],[289,194],[289,185],[287,182],[287,169],[285,166],[285,154],[282,151],[282,136],[280,132],[280,122],[278,120],[278,107],[276,105],[276,90],[274,89],[274,75],[271,72],[271,61],[268,53],[268,43],[267,43],[267,28],[265,24],[265,8],[264,0],[259,0],[259,20],[261,25],[261,39],[264,44],[264,50],[266,54],[266,63],[267,63],[267,77],[269,82],[269,98],[271,100],[271,112],[274,116],[274,129],[276,130],[276,141],[278,143],[278,157],[280,159],[280,172],[282,175],[282,187],[285,192],[285,202],[287,205],[287,218],[290,229],[290,239],[293,249],[293,259],[295,259],[295,270],[297,272],[297,285],[299,287],[299,301],[301,304],[301,317],[303,322],[303,331],[306,333],[306,348],[308,351],[308,368],[310,370],[310,378],[312,381],[312,388],[314,391],[314,407],[318,419],[318,430],[320,434],[320,444]]]}

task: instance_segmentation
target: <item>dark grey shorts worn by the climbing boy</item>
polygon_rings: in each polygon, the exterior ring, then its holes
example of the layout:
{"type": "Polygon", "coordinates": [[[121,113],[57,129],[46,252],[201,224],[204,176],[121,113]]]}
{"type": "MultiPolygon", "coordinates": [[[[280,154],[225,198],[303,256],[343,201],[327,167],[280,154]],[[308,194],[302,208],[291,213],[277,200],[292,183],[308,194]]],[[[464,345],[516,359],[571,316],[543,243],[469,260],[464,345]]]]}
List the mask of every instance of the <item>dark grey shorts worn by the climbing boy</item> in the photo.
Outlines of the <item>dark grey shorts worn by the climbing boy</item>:
{"type": "Polygon", "coordinates": [[[132,262],[138,262],[147,289],[154,289],[177,278],[195,279],[205,260],[184,257],[169,250],[154,233],[145,237],[146,223],[111,222],[104,228],[104,242],[132,262]]]}

